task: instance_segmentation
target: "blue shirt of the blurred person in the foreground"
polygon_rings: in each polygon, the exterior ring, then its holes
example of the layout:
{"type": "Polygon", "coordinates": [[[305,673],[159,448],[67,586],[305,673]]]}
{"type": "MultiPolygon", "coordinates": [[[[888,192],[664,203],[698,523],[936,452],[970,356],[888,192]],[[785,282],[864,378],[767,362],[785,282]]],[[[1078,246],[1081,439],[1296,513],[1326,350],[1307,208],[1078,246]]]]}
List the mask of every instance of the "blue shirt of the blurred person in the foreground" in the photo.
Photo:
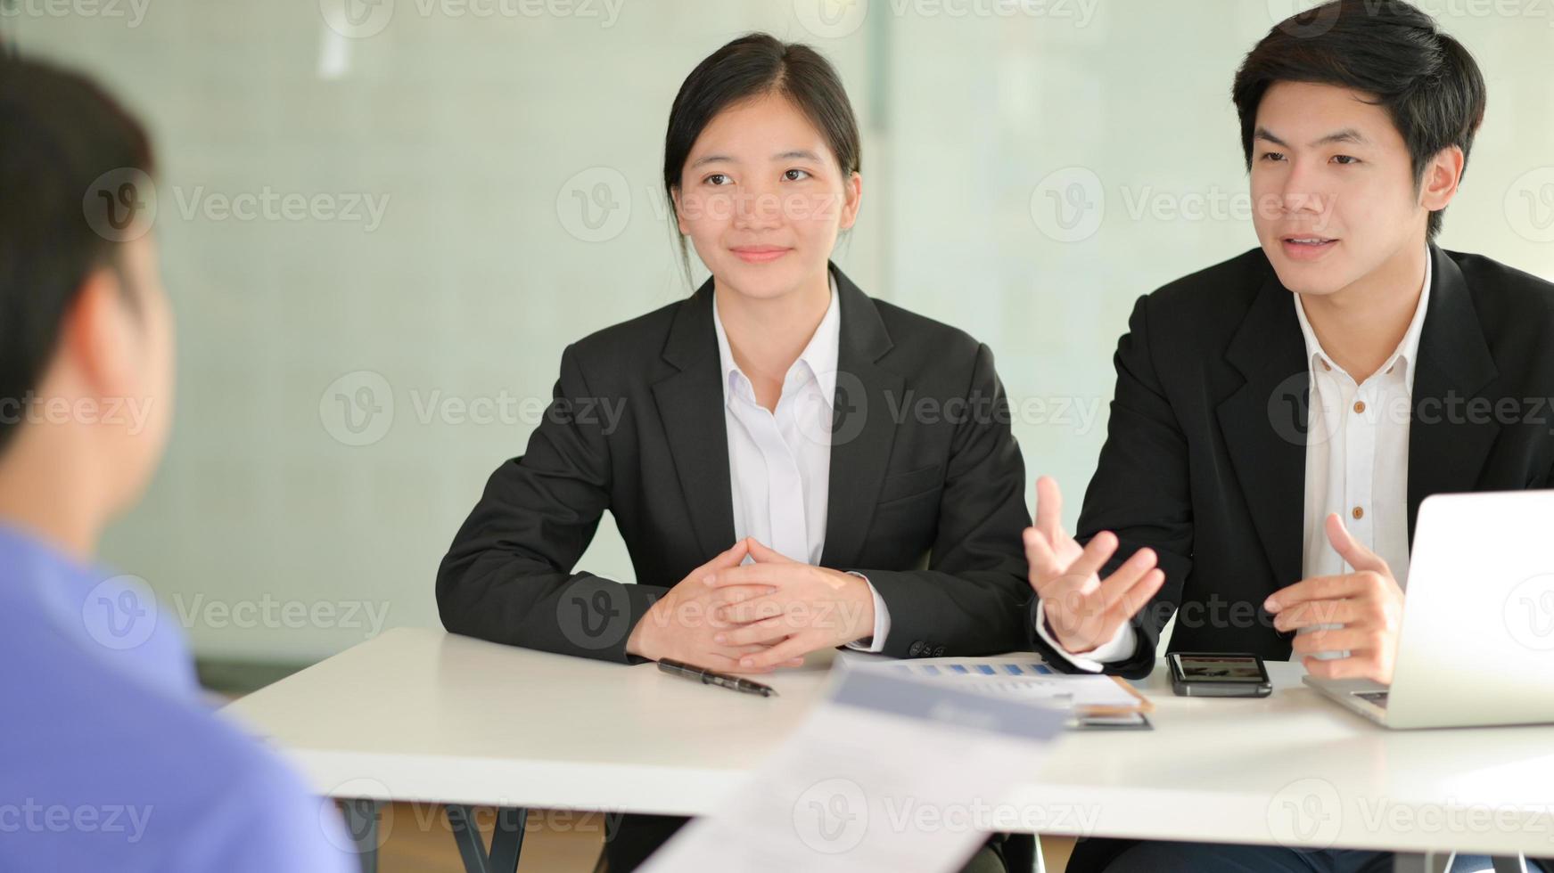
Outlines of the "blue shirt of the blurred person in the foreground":
{"type": "Polygon", "coordinates": [[[0,525],[0,870],[353,868],[334,806],[202,702],[138,581],[0,525]]]}

